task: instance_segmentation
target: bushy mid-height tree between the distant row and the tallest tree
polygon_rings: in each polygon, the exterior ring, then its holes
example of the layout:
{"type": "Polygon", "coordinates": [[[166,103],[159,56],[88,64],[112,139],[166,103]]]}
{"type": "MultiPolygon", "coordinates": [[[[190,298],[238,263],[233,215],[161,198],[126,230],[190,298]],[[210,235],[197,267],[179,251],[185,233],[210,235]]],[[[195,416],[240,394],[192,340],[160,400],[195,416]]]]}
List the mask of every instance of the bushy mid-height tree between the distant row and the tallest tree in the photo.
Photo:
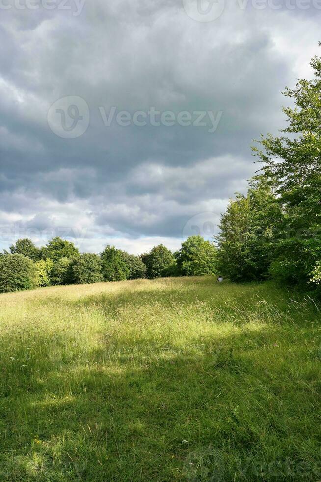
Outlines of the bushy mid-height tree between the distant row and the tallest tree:
{"type": "Polygon", "coordinates": [[[273,181],[265,175],[250,179],[247,195],[237,194],[221,215],[216,237],[219,271],[233,281],[266,278],[283,223],[273,181]]]}

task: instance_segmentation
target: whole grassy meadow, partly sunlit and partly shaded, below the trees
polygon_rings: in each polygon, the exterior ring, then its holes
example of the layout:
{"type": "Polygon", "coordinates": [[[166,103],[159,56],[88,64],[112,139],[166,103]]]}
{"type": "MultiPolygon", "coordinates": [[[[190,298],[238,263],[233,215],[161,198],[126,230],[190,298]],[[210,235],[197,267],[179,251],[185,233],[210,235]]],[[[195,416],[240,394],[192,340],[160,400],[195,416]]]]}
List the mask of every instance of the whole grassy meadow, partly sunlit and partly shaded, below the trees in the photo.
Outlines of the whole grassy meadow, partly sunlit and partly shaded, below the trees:
{"type": "Polygon", "coordinates": [[[210,277],[0,295],[0,481],[320,481],[320,309],[210,277]]]}

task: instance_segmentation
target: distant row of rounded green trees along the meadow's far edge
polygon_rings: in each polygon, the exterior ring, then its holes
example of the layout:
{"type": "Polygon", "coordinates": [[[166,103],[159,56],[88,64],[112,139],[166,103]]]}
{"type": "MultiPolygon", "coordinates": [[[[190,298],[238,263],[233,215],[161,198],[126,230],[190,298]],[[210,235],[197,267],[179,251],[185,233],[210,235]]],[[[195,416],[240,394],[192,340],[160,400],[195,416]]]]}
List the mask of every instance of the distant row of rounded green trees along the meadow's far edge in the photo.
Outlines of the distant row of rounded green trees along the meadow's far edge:
{"type": "Polygon", "coordinates": [[[100,255],[80,253],[71,241],[54,237],[37,248],[29,238],[0,253],[0,292],[37,286],[124,281],[161,276],[214,274],[217,249],[201,236],[191,236],[172,253],[162,244],[134,256],[107,245],[100,255]]]}

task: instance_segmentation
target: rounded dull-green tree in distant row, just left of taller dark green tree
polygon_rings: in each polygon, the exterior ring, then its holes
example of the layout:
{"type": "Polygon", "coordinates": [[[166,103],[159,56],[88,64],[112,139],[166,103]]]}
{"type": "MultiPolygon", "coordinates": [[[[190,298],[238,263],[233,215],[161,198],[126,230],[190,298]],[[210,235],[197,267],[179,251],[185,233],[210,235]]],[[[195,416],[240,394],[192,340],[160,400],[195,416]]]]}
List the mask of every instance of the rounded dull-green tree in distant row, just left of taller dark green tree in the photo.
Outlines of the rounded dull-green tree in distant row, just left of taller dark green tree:
{"type": "Polygon", "coordinates": [[[103,281],[102,262],[98,254],[83,253],[71,266],[72,279],[76,284],[99,283],[103,281]]]}

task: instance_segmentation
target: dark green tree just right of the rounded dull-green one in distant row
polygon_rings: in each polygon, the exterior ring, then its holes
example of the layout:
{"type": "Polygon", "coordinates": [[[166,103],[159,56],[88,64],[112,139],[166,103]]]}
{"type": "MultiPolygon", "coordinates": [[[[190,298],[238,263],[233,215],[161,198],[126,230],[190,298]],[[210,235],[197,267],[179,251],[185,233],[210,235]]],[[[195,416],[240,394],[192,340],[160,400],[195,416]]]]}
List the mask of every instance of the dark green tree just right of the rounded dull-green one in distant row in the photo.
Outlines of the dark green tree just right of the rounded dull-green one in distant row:
{"type": "Polygon", "coordinates": [[[107,244],[100,257],[105,281],[124,281],[129,278],[130,267],[123,251],[107,244]]]}

